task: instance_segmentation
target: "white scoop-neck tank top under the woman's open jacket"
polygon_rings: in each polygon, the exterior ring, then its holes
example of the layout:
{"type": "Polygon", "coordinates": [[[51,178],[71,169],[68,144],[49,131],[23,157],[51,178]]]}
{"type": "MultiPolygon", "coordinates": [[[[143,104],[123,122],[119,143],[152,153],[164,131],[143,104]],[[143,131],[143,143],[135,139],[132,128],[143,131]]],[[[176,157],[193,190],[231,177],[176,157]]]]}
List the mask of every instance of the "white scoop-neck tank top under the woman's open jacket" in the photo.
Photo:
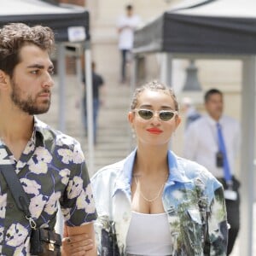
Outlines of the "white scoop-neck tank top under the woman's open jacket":
{"type": "Polygon", "coordinates": [[[132,212],[131,224],[126,237],[126,253],[143,256],[172,255],[167,213],[132,212]]]}

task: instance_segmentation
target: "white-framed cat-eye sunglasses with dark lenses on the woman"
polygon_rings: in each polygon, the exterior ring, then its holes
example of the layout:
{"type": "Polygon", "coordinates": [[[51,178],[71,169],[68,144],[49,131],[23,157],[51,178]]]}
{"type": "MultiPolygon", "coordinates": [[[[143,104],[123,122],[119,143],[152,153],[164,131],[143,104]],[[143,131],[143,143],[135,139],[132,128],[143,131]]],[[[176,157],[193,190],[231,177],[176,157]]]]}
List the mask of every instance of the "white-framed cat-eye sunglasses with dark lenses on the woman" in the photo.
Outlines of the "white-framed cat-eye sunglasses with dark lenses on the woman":
{"type": "Polygon", "coordinates": [[[138,113],[138,115],[145,120],[152,119],[154,117],[154,114],[158,113],[158,116],[162,121],[169,121],[177,114],[177,111],[174,110],[153,111],[151,109],[135,108],[133,109],[133,111],[138,113]]]}

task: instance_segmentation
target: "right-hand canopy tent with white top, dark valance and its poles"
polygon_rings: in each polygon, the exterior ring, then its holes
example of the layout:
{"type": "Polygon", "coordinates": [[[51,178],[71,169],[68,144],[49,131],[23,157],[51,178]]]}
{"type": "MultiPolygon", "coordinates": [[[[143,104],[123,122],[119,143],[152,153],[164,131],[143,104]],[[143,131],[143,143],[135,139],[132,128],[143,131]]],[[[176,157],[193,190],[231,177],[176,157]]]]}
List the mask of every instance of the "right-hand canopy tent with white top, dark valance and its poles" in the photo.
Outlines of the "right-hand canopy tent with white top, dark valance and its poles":
{"type": "MultiPolygon", "coordinates": [[[[137,59],[166,53],[166,83],[172,81],[172,60],[241,60],[241,255],[253,255],[253,195],[255,154],[256,2],[253,0],[186,1],[138,29],[137,59]]],[[[255,216],[254,216],[255,217],[255,216]]]]}

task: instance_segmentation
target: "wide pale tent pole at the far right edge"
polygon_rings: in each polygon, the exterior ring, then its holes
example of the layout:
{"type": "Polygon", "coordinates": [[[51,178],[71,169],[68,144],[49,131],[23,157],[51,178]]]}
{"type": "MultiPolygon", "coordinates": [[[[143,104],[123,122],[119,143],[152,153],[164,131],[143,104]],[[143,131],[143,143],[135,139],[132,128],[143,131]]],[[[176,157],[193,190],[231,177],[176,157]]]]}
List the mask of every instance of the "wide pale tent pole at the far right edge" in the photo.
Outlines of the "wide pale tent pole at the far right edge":
{"type": "Polygon", "coordinates": [[[241,256],[253,255],[253,158],[255,131],[255,56],[243,60],[241,90],[241,256]]]}

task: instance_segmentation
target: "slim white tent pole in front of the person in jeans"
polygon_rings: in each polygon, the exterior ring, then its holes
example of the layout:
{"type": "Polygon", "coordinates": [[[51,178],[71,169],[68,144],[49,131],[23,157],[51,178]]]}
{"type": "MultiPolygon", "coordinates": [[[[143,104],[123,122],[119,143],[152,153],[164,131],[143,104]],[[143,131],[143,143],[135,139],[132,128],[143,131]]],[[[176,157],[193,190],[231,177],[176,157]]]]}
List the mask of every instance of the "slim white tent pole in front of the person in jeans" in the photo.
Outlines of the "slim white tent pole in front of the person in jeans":
{"type": "Polygon", "coordinates": [[[91,75],[91,55],[90,43],[85,43],[84,63],[85,63],[85,83],[86,83],[86,107],[87,107],[87,134],[88,134],[88,154],[90,176],[94,170],[94,131],[93,131],[93,102],[92,102],[92,75],[91,75]]]}

